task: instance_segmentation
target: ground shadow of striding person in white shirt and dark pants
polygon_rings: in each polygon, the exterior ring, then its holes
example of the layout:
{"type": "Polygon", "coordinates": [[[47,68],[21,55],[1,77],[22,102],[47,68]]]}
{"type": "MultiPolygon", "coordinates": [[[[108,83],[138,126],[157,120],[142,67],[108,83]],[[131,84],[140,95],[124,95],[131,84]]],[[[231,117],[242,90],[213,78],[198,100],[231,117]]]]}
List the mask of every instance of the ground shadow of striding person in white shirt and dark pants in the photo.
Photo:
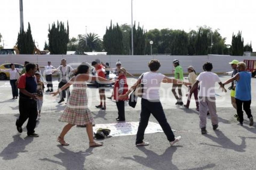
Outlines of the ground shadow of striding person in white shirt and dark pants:
{"type": "MultiPolygon", "coordinates": [[[[146,149],[145,147],[138,147],[147,157],[134,155],[131,157],[123,157],[124,159],[133,160],[139,164],[142,164],[145,167],[152,168],[155,170],[176,170],[179,169],[176,165],[172,163],[173,153],[177,150],[177,147],[182,146],[171,146],[168,147],[162,155],[158,155],[157,153],[146,149]]],[[[192,168],[189,170],[203,170],[207,168],[213,168],[215,164],[208,164],[203,167],[192,168]]]]}

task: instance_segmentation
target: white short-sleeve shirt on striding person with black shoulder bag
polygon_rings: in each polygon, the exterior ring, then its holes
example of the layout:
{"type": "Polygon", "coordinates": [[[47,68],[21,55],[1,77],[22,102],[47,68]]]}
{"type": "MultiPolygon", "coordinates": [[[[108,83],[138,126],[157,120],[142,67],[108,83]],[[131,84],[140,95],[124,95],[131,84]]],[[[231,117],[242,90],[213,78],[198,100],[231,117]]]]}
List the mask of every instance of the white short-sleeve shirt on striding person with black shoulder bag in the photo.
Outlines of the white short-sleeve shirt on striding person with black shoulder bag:
{"type": "Polygon", "coordinates": [[[144,84],[142,98],[147,100],[159,100],[159,89],[164,77],[165,75],[161,73],[151,71],[144,73],[142,78],[142,83],[144,84]]]}

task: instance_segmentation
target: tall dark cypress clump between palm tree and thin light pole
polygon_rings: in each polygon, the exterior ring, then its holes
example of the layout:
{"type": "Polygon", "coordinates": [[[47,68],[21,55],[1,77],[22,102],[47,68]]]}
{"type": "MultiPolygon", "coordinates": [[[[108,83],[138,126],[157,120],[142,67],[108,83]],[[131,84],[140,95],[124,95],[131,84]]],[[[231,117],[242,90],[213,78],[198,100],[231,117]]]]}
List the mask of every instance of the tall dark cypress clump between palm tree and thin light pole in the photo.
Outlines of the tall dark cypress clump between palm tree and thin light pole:
{"type": "Polygon", "coordinates": [[[117,23],[112,26],[112,20],[110,27],[106,28],[106,33],[103,36],[103,48],[109,54],[123,54],[123,34],[117,23]]]}

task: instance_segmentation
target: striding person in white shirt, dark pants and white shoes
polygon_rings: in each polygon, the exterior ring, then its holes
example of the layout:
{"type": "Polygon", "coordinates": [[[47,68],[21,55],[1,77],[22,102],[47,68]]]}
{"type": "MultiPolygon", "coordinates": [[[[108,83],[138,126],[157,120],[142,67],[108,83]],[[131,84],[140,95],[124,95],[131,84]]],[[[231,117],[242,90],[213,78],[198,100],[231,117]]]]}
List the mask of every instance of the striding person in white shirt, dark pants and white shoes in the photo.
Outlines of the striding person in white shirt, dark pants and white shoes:
{"type": "Polygon", "coordinates": [[[125,95],[120,96],[120,99],[128,97],[129,94],[136,88],[137,85],[139,85],[140,81],[142,80],[144,87],[141,100],[140,122],[136,136],[137,146],[145,146],[149,144],[148,142],[143,142],[143,139],[145,129],[148,125],[150,114],[153,114],[153,116],[156,118],[156,120],[162,127],[165,135],[167,136],[168,141],[170,142],[170,145],[173,145],[174,143],[178,142],[181,139],[181,136],[175,138],[173,131],[166,120],[164,110],[160,102],[159,89],[161,86],[161,82],[184,85],[191,85],[191,83],[171,79],[161,73],[157,73],[160,66],[161,65],[158,60],[151,60],[148,63],[150,71],[143,73],[140,76],[139,80],[130,88],[130,90],[128,90],[128,92],[125,95]]]}

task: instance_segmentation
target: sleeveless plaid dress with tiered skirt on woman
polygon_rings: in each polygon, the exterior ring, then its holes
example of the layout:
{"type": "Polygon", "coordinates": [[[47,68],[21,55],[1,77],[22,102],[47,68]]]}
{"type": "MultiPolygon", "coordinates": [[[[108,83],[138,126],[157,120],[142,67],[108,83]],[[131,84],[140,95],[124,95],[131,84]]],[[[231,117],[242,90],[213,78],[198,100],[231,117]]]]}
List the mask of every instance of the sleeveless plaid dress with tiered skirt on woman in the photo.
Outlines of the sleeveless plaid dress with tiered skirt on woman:
{"type": "Polygon", "coordinates": [[[73,125],[93,123],[92,113],[87,106],[88,98],[86,88],[86,82],[75,82],[73,84],[73,90],[67,102],[67,107],[59,117],[60,122],[73,125]]]}

